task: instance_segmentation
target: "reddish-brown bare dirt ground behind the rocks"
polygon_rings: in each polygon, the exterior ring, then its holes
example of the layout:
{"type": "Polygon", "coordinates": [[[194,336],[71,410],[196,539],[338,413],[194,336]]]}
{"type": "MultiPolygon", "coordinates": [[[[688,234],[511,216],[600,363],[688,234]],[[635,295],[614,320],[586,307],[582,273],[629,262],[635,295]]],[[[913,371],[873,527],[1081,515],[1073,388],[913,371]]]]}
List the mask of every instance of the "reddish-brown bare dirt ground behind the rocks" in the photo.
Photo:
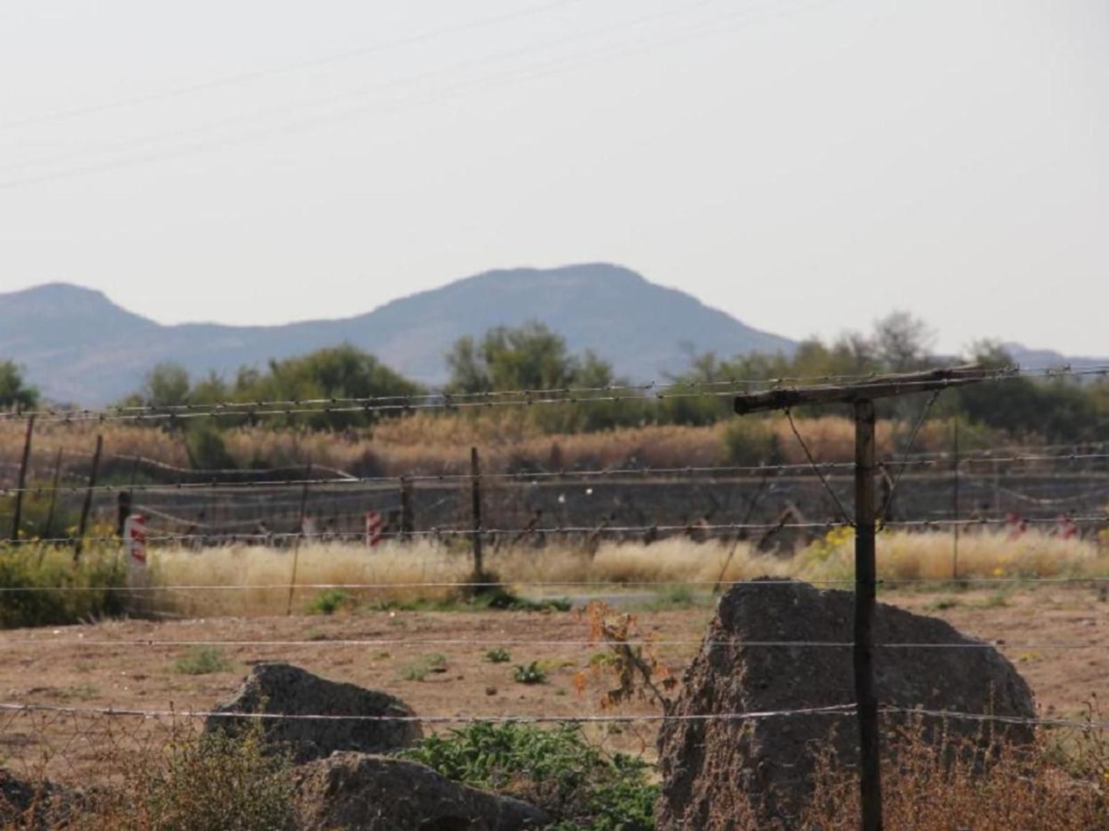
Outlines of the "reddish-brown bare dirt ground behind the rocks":
{"type": "MultiPolygon", "coordinates": [[[[1001,643],[1046,716],[1080,715],[1091,694],[1109,693],[1109,603],[1096,591],[895,593],[882,599],[1001,643]],[[1083,644],[1092,646],[1076,646],[1083,644]]],[[[712,612],[635,614],[640,633],[661,642],[655,652],[680,675],[712,612]]],[[[588,643],[588,632],[577,612],[372,612],[13,629],[0,633],[0,700],[77,709],[206,710],[238,687],[250,665],[286,660],[397,695],[421,716],[599,715],[611,679],[589,675],[581,694],[574,685],[576,676],[590,670],[590,658],[604,650],[588,643]],[[176,661],[197,642],[220,642],[230,667],[202,675],[180,671],[176,661]],[[510,663],[486,659],[487,650],[498,646],[511,654],[510,663]],[[445,671],[418,680],[414,667],[436,653],[446,657],[445,671]],[[542,661],[547,681],[516,683],[513,666],[536,660],[542,661]]],[[[622,710],[658,711],[649,702],[622,710]]],[[[95,780],[109,772],[105,766],[115,763],[121,748],[142,743],[140,735],[147,743],[160,731],[164,739],[171,721],[189,719],[0,712],[0,766],[95,780]]],[[[650,724],[593,726],[591,731],[614,749],[653,751],[650,724]]]]}

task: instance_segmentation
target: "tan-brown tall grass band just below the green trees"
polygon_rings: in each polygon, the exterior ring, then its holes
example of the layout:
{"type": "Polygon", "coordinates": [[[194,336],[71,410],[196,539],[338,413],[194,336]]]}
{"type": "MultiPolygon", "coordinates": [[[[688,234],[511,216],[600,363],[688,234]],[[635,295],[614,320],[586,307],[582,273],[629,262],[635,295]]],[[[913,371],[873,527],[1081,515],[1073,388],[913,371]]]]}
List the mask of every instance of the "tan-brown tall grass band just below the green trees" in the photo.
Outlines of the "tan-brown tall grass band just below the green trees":
{"type": "MultiPolygon", "coordinates": [[[[308,461],[358,474],[444,473],[468,470],[469,448],[482,451],[488,470],[528,466],[548,470],[637,465],[674,468],[728,462],[722,421],[709,427],[644,425],[596,433],[543,434],[526,410],[496,413],[416,413],[381,422],[372,430],[305,432],[292,429],[231,428],[222,437],[236,466],[281,468],[308,461]]],[[[756,422],[773,435],[781,459],[804,462],[804,452],[781,418],[756,422]]],[[[854,427],[841,417],[798,420],[798,430],[820,461],[853,458],[854,427]]],[[[907,425],[881,422],[878,451],[893,453],[905,440],[907,425]]],[[[190,466],[180,433],[126,423],[51,423],[35,427],[34,470],[45,476],[61,449],[69,463],[88,464],[96,434],[104,437],[105,458],[142,455],[181,468],[190,466]],[[84,456],[82,460],[81,456],[84,456]]],[[[24,425],[0,422],[0,459],[18,460],[24,425]]],[[[943,450],[946,425],[926,424],[916,442],[920,451],[943,450]]]]}

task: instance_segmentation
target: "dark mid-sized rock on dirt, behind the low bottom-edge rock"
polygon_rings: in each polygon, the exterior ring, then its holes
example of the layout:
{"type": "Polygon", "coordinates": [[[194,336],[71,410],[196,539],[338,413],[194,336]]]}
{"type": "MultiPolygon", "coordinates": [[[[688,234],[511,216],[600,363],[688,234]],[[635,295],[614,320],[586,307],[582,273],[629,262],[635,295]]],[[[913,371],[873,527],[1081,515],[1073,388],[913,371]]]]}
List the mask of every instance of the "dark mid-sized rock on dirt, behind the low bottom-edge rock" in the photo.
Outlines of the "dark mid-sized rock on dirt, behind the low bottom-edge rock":
{"type": "MultiPolygon", "coordinates": [[[[214,712],[274,712],[287,715],[413,717],[398,698],[354,684],[329,681],[289,664],[258,664],[235,696],[214,712]]],[[[204,730],[238,731],[253,719],[208,716],[204,730]]],[[[336,750],[389,752],[423,737],[417,721],[367,719],[263,719],[266,738],[292,751],[296,762],[329,756],[336,750]]]]}

